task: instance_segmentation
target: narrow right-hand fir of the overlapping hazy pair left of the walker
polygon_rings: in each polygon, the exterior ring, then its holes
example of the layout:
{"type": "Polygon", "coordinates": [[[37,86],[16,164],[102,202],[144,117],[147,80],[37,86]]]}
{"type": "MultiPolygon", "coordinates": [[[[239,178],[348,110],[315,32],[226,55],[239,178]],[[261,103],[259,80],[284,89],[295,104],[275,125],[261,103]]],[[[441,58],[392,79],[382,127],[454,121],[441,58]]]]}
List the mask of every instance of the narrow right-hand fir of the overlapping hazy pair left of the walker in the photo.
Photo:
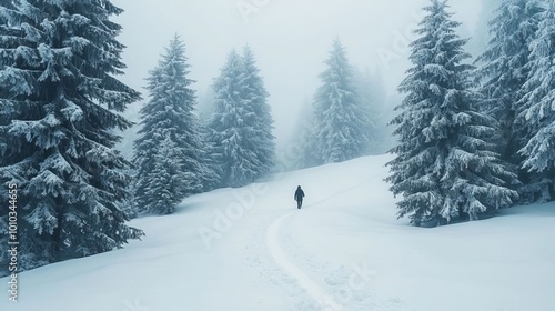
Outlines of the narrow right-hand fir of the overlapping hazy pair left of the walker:
{"type": "Polygon", "coordinates": [[[253,123],[250,124],[254,131],[251,139],[254,140],[253,152],[261,164],[256,178],[269,175],[275,165],[275,137],[272,133],[274,120],[268,103],[269,96],[254,54],[245,46],[242,54],[241,98],[243,106],[254,113],[253,123]]]}

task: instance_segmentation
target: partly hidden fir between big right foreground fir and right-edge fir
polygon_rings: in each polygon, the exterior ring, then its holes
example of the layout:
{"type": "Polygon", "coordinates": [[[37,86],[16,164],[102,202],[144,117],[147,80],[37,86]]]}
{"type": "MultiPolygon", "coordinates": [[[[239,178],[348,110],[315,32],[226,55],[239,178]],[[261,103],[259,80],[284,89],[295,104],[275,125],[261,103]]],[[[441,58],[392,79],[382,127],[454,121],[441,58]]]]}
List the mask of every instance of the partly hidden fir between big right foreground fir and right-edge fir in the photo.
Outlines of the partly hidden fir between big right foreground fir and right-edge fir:
{"type": "MultiPolygon", "coordinates": [[[[529,72],[528,46],[537,31],[542,11],[538,0],[503,1],[490,21],[487,49],[476,59],[481,63],[477,72],[484,97],[481,109],[500,122],[502,139],[498,152],[515,172],[518,172],[523,160],[517,151],[528,137],[526,127],[515,124],[515,118],[523,109],[519,100],[529,72]]],[[[527,193],[527,177],[523,171],[518,174],[524,183],[519,189],[521,198],[526,200],[531,195],[527,193]]]]}

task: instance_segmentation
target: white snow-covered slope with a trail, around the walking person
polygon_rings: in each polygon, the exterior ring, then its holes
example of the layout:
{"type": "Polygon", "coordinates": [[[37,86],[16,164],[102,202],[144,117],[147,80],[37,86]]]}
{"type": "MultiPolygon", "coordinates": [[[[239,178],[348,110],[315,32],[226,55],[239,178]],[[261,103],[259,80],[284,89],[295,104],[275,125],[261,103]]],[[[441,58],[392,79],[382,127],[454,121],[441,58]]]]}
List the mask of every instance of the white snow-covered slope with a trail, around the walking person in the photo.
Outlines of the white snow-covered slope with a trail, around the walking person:
{"type": "Polygon", "coordinates": [[[19,302],[3,291],[0,310],[555,310],[555,204],[408,227],[383,181],[390,159],[190,198],[132,221],[143,241],[21,273],[19,302]]]}

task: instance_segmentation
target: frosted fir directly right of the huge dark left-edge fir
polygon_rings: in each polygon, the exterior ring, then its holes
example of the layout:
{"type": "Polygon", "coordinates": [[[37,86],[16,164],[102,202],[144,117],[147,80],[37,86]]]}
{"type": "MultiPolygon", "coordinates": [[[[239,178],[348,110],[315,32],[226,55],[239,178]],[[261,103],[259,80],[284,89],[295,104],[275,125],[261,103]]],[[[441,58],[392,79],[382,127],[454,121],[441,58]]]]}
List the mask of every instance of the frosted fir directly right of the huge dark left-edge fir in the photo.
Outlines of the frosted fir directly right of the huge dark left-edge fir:
{"type": "Polygon", "coordinates": [[[182,199],[201,192],[211,174],[203,163],[205,150],[189,67],[184,44],[175,36],[147,79],[150,100],[140,111],[141,129],[133,146],[135,202],[141,212],[172,213],[182,199]]]}

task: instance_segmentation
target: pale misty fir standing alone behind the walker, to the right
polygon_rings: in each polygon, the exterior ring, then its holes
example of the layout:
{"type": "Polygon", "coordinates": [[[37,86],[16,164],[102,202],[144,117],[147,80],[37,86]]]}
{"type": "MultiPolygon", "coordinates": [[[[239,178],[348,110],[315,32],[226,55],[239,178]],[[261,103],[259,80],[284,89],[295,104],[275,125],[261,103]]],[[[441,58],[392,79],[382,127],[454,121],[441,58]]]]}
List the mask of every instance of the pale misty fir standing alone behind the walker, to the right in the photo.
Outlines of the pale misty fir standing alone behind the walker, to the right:
{"type": "Polygon", "coordinates": [[[353,81],[353,69],[339,38],[333,42],[322,86],[314,96],[313,140],[317,163],[335,163],[364,154],[369,146],[369,111],[363,108],[353,81]]]}

